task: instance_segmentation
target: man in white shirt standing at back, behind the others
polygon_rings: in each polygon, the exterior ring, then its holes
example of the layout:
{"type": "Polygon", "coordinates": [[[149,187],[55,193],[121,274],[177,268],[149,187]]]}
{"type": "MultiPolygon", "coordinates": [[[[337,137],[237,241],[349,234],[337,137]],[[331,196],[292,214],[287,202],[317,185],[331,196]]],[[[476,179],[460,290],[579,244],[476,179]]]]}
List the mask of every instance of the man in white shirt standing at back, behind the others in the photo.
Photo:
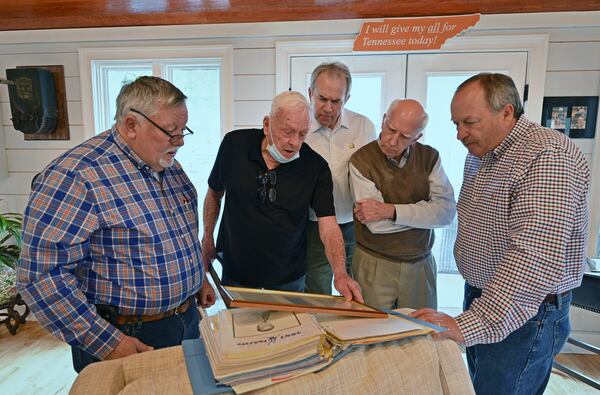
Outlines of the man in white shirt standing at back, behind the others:
{"type": "MultiPolygon", "coordinates": [[[[308,88],[313,119],[305,141],[327,161],[331,170],[336,220],[344,236],[346,268],[349,274],[356,239],[348,163],[352,154],[376,138],[373,122],[344,108],[350,97],[351,85],[350,70],[343,63],[322,63],[313,70],[308,88]]],[[[305,290],[331,294],[333,274],[325,256],[316,221],[315,213],[311,209],[307,233],[305,290]]]]}

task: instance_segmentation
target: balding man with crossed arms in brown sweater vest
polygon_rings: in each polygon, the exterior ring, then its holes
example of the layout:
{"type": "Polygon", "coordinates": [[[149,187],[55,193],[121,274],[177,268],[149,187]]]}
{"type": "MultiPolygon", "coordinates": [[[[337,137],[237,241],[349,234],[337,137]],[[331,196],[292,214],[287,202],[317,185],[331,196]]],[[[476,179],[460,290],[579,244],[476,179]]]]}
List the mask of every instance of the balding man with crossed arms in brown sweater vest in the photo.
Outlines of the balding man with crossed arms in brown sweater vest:
{"type": "Polygon", "coordinates": [[[456,203],[438,151],[417,142],[427,119],[419,102],[394,100],[379,139],[350,159],[352,272],[373,307],[437,307],[433,228],[452,222],[456,203]]]}

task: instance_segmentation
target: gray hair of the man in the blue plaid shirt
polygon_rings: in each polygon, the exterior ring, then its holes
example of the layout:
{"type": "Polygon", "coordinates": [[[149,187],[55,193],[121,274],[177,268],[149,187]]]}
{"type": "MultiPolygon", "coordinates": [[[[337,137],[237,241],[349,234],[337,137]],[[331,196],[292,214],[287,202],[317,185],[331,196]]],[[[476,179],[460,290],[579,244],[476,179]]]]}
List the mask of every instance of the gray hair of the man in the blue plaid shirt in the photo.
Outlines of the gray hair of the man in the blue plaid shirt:
{"type": "Polygon", "coordinates": [[[151,116],[159,107],[173,108],[185,103],[186,99],[187,96],[169,81],[151,76],[139,77],[121,87],[115,120],[122,122],[132,108],[151,116]]]}

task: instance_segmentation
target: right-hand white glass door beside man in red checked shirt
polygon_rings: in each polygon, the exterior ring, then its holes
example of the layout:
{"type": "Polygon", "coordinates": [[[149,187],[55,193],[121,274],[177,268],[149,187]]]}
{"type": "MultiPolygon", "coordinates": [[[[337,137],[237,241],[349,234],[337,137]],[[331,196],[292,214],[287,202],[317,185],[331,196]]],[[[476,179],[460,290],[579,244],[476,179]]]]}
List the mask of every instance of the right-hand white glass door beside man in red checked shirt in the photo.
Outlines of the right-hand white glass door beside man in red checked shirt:
{"type": "MultiPolygon", "coordinates": [[[[455,197],[462,185],[466,148],[456,139],[456,128],[450,120],[450,101],[457,86],[480,72],[500,72],[510,75],[521,99],[526,81],[527,53],[453,53],[409,55],[406,97],[419,100],[429,114],[429,123],[422,142],[440,152],[442,165],[455,197]]],[[[457,219],[442,229],[436,229],[433,254],[438,267],[438,308],[450,314],[462,309],[463,280],[457,274],[453,248],[457,219]]]]}

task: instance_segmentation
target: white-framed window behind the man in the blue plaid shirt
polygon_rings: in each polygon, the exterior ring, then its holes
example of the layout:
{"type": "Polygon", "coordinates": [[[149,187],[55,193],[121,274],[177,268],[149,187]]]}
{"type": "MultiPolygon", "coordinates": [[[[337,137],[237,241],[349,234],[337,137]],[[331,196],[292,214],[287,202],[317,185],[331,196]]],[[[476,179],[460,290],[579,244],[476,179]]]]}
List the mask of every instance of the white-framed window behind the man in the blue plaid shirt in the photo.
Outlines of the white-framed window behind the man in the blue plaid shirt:
{"type": "Polygon", "coordinates": [[[231,48],[82,49],[79,55],[86,138],[114,124],[121,87],[139,76],[164,78],[188,96],[188,126],[195,133],[185,140],[177,160],[202,202],[222,131],[232,126],[227,105],[231,101],[231,48]]]}

